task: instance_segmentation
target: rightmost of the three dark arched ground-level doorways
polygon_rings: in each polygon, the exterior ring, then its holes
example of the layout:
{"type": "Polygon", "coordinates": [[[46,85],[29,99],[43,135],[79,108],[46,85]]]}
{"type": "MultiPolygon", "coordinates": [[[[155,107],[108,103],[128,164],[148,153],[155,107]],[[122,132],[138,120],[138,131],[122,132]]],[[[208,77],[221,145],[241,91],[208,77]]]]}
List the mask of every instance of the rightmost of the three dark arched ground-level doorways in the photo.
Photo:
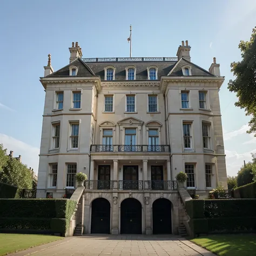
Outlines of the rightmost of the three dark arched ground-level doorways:
{"type": "Polygon", "coordinates": [[[154,201],[153,213],[153,234],[172,233],[172,204],[165,198],[154,201]]]}

